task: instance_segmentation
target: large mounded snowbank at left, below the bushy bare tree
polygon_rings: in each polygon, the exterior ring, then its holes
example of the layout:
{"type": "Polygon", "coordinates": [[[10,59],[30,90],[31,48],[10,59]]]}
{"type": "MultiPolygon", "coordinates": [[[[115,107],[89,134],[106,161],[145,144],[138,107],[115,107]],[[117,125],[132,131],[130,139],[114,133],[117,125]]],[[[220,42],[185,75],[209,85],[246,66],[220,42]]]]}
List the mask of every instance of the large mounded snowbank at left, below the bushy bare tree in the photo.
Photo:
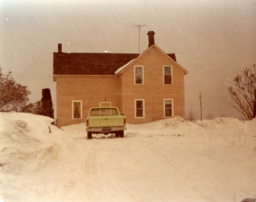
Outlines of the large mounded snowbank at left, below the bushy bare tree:
{"type": "Polygon", "coordinates": [[[58,128],[52,119],[26,113],[0,114],[0,169],[8,173],[38,171],[60,149],[60,137],[49,133],[58,128]],[[26,167],[26,169],[24,169],[26,167]]]}

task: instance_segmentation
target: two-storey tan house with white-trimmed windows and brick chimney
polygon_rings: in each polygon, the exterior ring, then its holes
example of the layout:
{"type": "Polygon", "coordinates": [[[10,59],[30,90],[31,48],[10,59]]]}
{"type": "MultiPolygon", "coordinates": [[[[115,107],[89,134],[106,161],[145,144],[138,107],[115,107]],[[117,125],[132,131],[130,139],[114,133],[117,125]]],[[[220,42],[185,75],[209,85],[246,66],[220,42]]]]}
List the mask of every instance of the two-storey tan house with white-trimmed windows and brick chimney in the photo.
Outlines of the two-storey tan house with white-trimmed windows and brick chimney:
{"type": "Polygon", "coordinates": [[[58,125],[81,123],[90,107],[116,106],[127,123],[184,118],[184,75],[175,54],[166,54],[148,31],[148,49],[141,54],[53,54],[58,125]]]}

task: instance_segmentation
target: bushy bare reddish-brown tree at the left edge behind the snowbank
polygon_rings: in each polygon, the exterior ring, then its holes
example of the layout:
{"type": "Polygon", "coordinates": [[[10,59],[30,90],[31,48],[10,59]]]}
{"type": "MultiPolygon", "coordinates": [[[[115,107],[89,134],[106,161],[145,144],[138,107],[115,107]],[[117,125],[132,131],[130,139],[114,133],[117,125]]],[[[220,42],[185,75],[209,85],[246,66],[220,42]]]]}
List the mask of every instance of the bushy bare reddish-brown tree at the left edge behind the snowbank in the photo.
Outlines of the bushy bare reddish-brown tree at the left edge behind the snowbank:
{"type": "Polygon", "coordinates": [[[17,83],[11,71],[4,75],[0,66],[0,111],[22,111],[29,94],[28,86],[17,83]]]}

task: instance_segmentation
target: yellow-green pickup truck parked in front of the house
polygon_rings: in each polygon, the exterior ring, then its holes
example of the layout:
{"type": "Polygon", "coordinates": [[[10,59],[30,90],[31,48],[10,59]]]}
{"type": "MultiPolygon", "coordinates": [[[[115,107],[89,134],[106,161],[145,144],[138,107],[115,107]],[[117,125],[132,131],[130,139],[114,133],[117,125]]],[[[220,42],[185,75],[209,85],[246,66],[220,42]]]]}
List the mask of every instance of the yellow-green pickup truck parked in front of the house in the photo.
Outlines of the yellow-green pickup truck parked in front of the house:
{"type": "Polygon", "coordinates": [[[117,107],[91,107],[86,118],[86,131],[88,139],[92,134],[115,134],[124,137],[126,118],[120,114],[117,107]]]}

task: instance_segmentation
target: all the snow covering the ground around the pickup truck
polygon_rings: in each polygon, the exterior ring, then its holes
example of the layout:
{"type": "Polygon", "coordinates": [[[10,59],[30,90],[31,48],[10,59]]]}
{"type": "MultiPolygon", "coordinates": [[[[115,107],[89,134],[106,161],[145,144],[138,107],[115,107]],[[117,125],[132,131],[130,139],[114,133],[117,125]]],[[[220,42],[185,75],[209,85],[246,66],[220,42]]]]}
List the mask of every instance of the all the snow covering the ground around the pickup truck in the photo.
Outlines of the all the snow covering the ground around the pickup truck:
{"type": "Polygon", "coordinates": [[[256,119],[127,124],[86,138],[84,123],[0,113],[0,201],[242,201],[256,198],[256,119]]]}

